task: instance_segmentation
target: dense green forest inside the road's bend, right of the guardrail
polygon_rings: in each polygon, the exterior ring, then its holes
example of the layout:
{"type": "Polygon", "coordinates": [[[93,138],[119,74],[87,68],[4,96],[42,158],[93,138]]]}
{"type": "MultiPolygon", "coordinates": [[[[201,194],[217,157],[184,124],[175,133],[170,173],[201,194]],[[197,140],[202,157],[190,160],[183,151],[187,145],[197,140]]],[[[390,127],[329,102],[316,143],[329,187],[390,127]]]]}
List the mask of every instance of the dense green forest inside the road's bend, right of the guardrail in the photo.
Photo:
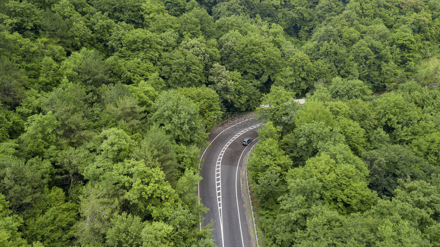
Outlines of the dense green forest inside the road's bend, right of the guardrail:
{"type": "Polygon", "coordinates": [[[440,245],[438,89],[335,78],[304,105],[279,86],[263,102],[248,169],[269,246],[440,245]]]}

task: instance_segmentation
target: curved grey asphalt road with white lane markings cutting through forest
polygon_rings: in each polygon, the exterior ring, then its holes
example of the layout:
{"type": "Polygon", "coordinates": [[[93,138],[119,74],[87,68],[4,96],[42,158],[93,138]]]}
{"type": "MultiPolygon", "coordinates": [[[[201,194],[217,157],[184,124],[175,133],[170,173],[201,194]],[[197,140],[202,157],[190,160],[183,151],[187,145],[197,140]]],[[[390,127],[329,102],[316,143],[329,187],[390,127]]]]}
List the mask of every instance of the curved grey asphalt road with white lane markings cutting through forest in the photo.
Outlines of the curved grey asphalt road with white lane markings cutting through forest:
{"type": "Polygon", "coordinates": [[[209,208],[204,215],[203,226],[213,222],[213,235],[218,246],[251,246],[255,233],[246,223],[237,166],[243,165],[239,162],[240,155],[246,148],[241,142],[246,137],[257,138],[256,130],[260,123],[250,115],[239,116],[218,126],[209,135],[208,141],[212,143],[202,156],[203,180],[199,185],[199,194],[203,205],[209,208]]]}

